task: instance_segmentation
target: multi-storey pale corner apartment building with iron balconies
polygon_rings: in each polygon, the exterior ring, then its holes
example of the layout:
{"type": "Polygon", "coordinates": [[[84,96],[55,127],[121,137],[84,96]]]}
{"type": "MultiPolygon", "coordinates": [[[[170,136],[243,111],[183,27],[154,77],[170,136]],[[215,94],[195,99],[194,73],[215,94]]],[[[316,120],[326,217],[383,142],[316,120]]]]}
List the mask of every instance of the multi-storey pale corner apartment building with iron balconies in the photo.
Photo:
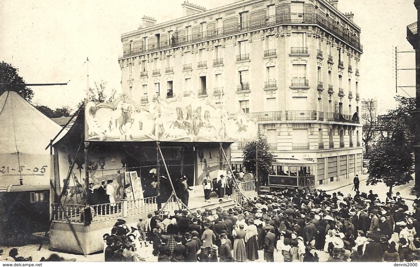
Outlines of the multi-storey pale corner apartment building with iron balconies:
{"type": "MultiPolygon", "coordinates": [[[[205,97],[256,117],[276,155],[271,184],[292,174],[300,186],[352,178],[362,171],[362,46],[337,2],[242,0],[212,10],[184,2],[182,18],[144,16],[121,36],[123,92],[142,105],[205,97]]],[[[236,168],[243,147],[231,146],[236,168]]]]}

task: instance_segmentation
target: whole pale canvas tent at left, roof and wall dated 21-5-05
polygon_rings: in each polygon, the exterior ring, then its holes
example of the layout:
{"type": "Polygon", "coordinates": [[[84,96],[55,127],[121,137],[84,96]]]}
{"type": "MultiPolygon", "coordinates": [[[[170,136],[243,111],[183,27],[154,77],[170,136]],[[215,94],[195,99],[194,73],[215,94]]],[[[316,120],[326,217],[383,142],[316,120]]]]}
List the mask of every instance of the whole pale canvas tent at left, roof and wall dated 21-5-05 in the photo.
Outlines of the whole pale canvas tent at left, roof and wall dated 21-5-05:
{"type": "Polygon", "coordinates": [[[45,147],[60,130],[18,93],[4,92],[0,96],[0,185],[18,185],[20,179],[24,185],[49,185],[54,167],[45,147]]]}

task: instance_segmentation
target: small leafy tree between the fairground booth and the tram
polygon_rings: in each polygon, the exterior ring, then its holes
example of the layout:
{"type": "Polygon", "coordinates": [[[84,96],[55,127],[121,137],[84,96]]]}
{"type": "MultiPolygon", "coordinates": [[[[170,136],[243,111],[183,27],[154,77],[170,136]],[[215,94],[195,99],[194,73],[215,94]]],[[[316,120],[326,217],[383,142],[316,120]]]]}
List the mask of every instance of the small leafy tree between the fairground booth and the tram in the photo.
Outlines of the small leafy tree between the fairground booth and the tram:
{"type": "Polygon", "coordinates": [[[271,163],[273,162],[274,154],[270,151],[270,145],[267,142],[267,138],[258,134],[257,142],[248,143],[242,152],[244,155],[244,166],[247,169],[247,172],[256,174],[256,147],[258,146],[258,176],[267,176],[271,168],[271,163]]]}

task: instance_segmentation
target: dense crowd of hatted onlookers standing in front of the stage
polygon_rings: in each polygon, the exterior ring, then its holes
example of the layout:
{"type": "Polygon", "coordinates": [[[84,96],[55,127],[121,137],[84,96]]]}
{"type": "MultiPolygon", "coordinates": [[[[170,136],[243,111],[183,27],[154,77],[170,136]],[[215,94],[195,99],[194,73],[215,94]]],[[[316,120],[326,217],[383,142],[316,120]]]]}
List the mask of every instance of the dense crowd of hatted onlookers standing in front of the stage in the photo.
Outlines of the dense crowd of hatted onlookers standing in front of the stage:
{"type": "Polygon", "coordinates": [[[152,244],[158,262],[255,261],[260,250],[267,262],[318,262],[320,253],[328,262],[413,261],[420,259],[420,196],[413,207],[399,193],[382,202],[372,190],[285,189],[227,210],[155,211],[137,228],[118,220],[104,236],[105,261],[144,260],[142,243],[152,244]]]}

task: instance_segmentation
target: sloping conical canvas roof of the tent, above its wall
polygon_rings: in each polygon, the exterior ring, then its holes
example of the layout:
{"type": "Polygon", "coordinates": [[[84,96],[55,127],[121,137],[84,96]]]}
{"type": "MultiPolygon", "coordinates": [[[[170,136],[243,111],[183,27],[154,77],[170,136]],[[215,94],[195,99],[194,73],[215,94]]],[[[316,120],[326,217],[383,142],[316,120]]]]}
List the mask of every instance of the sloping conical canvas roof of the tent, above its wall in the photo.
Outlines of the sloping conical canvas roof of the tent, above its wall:
{"type": "MultiPolygon", "coordinates": [[[[45,147],[61,126],[42,114],[18,93],[0,96],[0,154],[50,154],[45,147]]],[[[66,130],[58,136],[66,134],[66,130]]]]}

